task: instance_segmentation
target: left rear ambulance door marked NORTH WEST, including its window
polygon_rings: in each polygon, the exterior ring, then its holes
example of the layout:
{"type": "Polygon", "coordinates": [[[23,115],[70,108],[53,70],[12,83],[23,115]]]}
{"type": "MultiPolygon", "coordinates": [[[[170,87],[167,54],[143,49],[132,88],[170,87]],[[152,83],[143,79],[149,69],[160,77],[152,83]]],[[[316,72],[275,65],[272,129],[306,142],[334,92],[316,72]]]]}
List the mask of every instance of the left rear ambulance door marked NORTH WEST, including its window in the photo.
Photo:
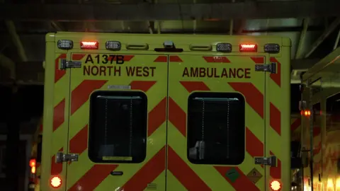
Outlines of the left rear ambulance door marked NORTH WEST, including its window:
{"type": "Polygon", "coordinates": [[[67,190],[165,190],[166,59],[75,51],[67,190]]]}

